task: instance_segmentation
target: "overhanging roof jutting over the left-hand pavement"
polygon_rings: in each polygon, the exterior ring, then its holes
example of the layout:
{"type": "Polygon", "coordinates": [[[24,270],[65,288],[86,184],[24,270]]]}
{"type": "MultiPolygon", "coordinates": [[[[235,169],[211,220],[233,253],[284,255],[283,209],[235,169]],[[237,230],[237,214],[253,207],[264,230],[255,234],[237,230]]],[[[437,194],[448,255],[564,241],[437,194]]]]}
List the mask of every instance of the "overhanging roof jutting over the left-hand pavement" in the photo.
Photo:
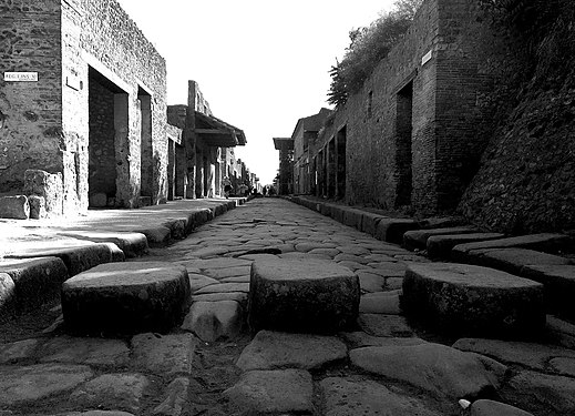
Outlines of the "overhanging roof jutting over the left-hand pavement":
{"type": "Polygon", "coordinates": [[[226,123],[213,115],[206,115],[199,111],[195,112],[195,133],[209,146],[235,148],[247,143],[246,135],[242,129],[226,123]]]}

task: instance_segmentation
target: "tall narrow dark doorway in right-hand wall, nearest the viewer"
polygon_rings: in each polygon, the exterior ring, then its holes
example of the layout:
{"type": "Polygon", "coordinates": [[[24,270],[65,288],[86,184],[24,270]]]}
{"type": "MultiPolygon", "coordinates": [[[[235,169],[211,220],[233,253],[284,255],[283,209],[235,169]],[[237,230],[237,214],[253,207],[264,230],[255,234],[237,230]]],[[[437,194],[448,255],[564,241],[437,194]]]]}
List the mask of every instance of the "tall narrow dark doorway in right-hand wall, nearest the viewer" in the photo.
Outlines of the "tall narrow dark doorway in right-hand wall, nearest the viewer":
{"type": "Polygon", "coordinates": [[[396,207],[411,204],[413,189],[411,135],[413,133],[413,81],[398,92],[396,119],[396,207]]]}

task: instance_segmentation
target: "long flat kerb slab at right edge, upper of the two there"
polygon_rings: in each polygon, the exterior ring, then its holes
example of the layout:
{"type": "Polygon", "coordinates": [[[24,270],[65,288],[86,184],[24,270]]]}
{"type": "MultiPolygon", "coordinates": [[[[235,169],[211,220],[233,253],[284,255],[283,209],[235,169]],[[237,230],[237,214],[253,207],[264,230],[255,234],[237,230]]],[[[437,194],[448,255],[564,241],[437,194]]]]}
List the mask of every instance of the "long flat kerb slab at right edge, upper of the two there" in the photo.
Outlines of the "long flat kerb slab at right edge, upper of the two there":
{"type": "Polygon", "coordinates": [[[565,234],[528,234],[516,237],[496,239],[491,241],[463,243],[453,247],[451,256],[454,261],[468,263],[466,254],[472,250],[485,248],[531,248],[546,253],[556,253],[573,244],[572,237],[565,234]]]}

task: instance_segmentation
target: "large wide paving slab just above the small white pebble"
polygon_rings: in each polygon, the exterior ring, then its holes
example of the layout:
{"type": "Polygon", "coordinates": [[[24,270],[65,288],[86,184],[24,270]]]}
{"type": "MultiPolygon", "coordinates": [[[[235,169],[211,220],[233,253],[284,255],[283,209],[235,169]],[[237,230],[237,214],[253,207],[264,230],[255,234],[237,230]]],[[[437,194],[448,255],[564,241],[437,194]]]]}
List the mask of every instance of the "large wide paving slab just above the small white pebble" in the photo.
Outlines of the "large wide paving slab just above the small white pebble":
{"type": "Polygon", "coordinates": [[[451,399],[475,396],[485,388],[496,389],[506,371],[491,358],[433,343],[357,348],[350,351],[350,358],[364,371],[451,399]]]}

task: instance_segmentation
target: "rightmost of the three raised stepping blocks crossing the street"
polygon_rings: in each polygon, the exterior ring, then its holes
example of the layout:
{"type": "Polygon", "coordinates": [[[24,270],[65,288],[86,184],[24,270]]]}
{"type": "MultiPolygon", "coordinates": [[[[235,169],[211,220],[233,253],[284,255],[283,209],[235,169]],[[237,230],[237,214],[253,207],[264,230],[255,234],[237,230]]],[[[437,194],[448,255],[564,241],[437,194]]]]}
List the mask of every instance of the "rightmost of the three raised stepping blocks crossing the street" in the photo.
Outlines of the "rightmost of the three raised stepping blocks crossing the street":
{"type": "Polygon", "coordinates": [[[533,336],[545,327],[542,284],[464,264],[410,264],[402,307],[440,331],[469,336],[533,336]]]}

